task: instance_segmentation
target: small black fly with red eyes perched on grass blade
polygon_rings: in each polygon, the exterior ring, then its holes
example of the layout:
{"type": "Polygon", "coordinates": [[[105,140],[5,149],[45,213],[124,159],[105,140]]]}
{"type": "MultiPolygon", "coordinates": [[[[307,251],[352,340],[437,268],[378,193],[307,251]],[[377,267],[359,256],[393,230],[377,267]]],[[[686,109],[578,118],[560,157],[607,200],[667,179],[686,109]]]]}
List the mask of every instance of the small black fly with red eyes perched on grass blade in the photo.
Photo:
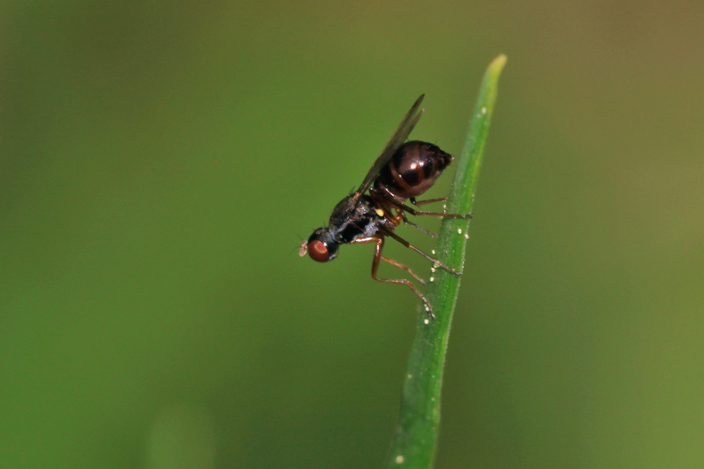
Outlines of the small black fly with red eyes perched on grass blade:
{"type": "Polygon", "coordinates": [[[398,129],[391,136],[389,143],[386,143],[386,147],[367,172],[367,176],[359,188],[335,206],[330,215],[328,226],[313,231],[308,240],[303,240],[299,254],[303,257],[308,252],[311,259],[318,262],[328,262],[337,257],[341,244],[375,243],[372,278],[380,282],[407,285],[413,290],[413,293],[420,297],[425,304],[428,315],[434,319],[432,304],[411,281],[405,278],[377,277],[379,263],[383,260],[403,269],[425,285],[425,281],[407,266],[382,256],[384,238],[386,237],[393,238],[406,248],[418,252],[450,274],[460,276],[460,273],[454,269],[430,257],[394,233],[396,226],[403,221],[430,236],[437,236],[408,220],[407,214],[464,219],[472,217],[470,214],[424,212],[406,205],[406,200],[410,200],[410,203],[415,206],[447,200],[446,197],[431,200],[415,199],[435,183],[453,159],[452,155],[432,143],[417,140],[406,142],[423,113],[423,110],[420,109],[420,103],[424,97],[425,94],[420,95],[406,117],[403,117],[398,129]]]}

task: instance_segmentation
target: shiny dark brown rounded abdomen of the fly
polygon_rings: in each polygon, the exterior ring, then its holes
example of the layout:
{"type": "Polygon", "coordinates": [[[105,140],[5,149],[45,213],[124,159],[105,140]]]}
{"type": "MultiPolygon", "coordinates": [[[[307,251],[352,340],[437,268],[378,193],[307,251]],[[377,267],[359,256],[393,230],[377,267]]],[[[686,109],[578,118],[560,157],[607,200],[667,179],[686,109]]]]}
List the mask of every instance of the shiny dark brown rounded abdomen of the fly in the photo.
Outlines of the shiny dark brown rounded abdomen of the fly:
{"type": "Polygon", "coordinates": [[[379,171],[374,188],[399,201],[417,197],[435,184],[451,161],[452,155],[432,143],[404,143],[379,171]]]}

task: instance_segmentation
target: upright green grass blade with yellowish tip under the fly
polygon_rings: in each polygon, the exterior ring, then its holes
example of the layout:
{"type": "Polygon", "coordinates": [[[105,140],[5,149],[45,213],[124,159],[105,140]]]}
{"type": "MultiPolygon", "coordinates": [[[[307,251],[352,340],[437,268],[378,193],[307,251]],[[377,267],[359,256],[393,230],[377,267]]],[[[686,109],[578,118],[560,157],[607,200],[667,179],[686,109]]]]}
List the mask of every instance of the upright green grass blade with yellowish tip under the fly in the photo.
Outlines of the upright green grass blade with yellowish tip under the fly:
{"type": "MultiPolygon", "coordinates": [[[[458,158],[457,172],[447,203],[448,213],[471,213],[477,188],[479,167],[489,121],[496,101],[498,77],[505,56],[498,56],[489,65],[479,89],[479,98],[467,131],[465,146],[458,158]]],[[[446,218],[440,229],[436,255],[441,262],[455,269],[464,266],[465,234],[469,220],[446,218]]],[[[427,291],[433,305],[434,321],[420,315],[410,361],[403,385],[401,411],[391,442],[389,468],[432,467],[440,423],[440,390],[452,315],[460,279],[443,269],[436,269],[427,291]]]]}

